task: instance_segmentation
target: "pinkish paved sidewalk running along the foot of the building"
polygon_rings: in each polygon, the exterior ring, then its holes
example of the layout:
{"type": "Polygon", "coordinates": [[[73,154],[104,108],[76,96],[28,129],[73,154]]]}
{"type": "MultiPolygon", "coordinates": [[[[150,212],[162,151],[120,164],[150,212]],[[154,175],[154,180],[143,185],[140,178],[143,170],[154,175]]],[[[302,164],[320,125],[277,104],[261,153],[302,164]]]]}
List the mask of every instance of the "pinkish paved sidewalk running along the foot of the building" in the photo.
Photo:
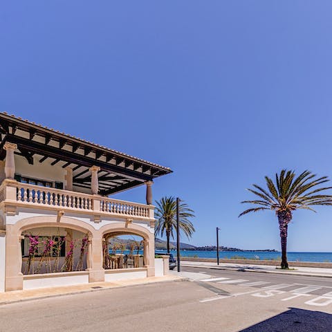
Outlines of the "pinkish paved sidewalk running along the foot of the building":
{"type": "Polygon", "coordinates": [[[165,275],[163,277],[147,277],[142,279],[127,279],[117,282],[94,282],[90,284],[80,284],[73,286],[62,286],[52,288],[28,289],[25,291],[12,291],[0,293],[0,305],[14,302],[29,301],[32,299],[42,299],[46,297],[73,295],[79,293],[89,293],[95,291],[104,291],[111,288],[121,288],[127,286],[138,286],[144,284],[153,284],[156,282],[183,281],[185,278],[178,275],[165,275]]]}

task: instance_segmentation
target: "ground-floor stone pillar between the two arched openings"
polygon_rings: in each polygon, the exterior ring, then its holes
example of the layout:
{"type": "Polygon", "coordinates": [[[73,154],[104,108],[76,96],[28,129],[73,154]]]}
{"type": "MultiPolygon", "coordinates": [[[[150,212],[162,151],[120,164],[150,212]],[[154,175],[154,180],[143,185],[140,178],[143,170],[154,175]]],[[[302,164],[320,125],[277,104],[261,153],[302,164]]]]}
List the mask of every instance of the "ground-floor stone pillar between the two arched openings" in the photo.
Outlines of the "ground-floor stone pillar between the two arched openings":
{"type": "Polygon", "coordinates": [[[105,270],[102,268],[102,238],[92,237],[91,239],[92,259],[91,270],[89,270],[89,282],[104,282],[105,270]]]}

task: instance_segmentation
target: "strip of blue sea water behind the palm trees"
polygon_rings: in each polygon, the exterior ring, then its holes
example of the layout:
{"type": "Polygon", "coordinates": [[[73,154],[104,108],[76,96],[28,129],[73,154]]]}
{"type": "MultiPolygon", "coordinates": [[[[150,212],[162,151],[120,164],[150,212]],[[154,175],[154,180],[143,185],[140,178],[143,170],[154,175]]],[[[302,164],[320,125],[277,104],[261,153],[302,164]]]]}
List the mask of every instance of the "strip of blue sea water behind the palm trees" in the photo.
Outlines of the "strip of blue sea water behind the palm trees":
{"type": "MultiPolygon", "coordinates": [[[[156,250],[166,252],[166,250],[156,250]]],[[[176,250],[171,250],[176,255],[176,250]]],[[[216,258],[216,251],[180,250],[181,257],[216,258]]],[[[281,252],[270,251],[219,251],[219,258],[281,259],[281,252]]],[[[287,252],[288,261],[332,262],[332,252],[287,252]]]]}

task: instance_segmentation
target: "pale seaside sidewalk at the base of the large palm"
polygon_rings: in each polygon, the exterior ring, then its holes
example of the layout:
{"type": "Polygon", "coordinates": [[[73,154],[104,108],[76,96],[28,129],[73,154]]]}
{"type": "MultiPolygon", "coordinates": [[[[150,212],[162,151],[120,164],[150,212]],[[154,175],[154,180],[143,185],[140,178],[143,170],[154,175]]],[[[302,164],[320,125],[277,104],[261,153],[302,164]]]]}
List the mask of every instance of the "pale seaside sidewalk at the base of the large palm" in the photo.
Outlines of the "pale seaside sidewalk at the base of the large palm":
{"type": "Polygon", "coordinates": [[[244,270],[250,272],[261,273],[279,273],[286,275],[307,275],[311,277],[330,277],[332,278],[332,268],[304,268],[292,266],[295,270],[281,270],[276,266],[268,265],[252,265],[252,264],[232,264],[221,263],[219,266],[216,263],[205,261],[181,261],[181,266],[195,267],[195,268],[218,268],[220,270],[244,270]]]}

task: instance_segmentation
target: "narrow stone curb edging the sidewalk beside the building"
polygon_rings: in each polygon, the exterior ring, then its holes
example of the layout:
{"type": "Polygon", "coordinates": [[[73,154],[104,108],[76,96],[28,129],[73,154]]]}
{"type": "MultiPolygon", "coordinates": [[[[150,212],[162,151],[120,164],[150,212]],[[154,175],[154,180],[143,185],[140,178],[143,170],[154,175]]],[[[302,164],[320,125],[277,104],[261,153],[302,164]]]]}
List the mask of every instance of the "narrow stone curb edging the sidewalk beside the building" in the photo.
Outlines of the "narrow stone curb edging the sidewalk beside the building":
{"type": "Polygon", "coordinates": [[[189,278],[187,278],[187,277],[177,277],[176,279],[171,279],[171,280],[156,280],[156,281],[145,282],[145,283],[141,283],[141,284],[119,285],[119,286],[109,286],[109,287],[101,287],[101,288],[89,288],[89,289],[85,289],[82,291],[76,291],[76,292],[71,292],[71,293],[40,295],[40,296],[36,296],[36,297],[28,297],[26,299],[15,299],[13,301],[7,300],[7,301],[0,302],[0,306],[4,306],[6,304],[35,301],[37,299],[49,299],[51,297],[62,297],[62,296],[66,296],[66,295],[77,295],[77,294],[84,294],[84,293],[91,293],[91,292],[98,292],[98,291],[108,291],[110,289],[116,289],[116,288],[134,287],[134,286],[142,286],[142,285],[146,286],[149,284],[158,284],[158,283],[163,283],[163,282],[187,282],[187,281],[189,281],[189,278]]]}

